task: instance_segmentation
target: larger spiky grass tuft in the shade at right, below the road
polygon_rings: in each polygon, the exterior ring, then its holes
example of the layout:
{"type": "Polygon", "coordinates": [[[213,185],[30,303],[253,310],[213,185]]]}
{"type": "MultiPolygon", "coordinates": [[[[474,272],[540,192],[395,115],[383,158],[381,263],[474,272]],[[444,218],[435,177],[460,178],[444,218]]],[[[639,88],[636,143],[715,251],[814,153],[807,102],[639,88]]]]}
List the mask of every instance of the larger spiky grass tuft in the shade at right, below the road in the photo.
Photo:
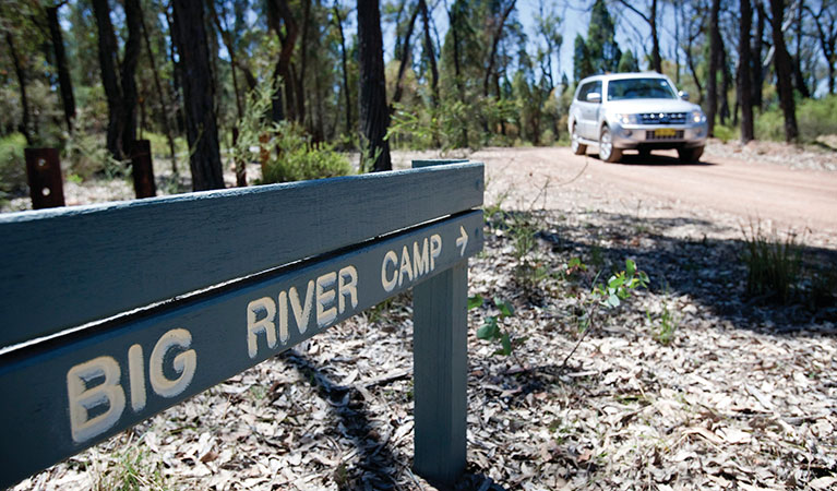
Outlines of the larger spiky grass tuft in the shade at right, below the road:
{"type": "Polygon", "coordinates": [[[788,233],[785,240],[762,230],[761,224],[750,224],[743,229],[744,253],[748,268],[746,294],[752,297],[767,296],[787,303],[799,280],[802,249],[797,237],[788,233]]]}

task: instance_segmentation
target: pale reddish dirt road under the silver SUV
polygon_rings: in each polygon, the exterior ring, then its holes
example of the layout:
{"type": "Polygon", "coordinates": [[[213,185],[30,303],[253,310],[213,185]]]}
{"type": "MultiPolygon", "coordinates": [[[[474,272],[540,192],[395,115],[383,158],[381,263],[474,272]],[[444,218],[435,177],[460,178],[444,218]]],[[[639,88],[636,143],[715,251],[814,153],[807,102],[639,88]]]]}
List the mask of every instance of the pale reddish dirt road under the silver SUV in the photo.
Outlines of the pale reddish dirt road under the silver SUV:
{"type": "Polygon", "coordinates": [[[569,148],[488,148],[469,158],[487,164],[489,200],[510,192],[506,200],[526,205],[537,197],[549,208],[590,206],[587,201],[593,200],[635,211],[645,203],[705,217],[737,217],[742,224],[770,220],[780,229],[837,237],[833,171],[713,155],[682,165],[674,152],[644,159],[625,155],[621,164],[603,163],[593,153],[576,156],[569,148]]]}

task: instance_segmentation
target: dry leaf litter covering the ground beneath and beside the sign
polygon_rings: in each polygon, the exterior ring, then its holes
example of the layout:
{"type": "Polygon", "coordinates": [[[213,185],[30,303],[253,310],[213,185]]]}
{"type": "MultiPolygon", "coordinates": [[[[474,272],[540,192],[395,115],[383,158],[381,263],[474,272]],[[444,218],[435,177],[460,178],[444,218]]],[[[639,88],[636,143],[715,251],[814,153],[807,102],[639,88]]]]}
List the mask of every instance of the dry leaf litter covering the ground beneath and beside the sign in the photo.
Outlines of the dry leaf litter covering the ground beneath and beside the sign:
{"type": "MultiPolygon", "coordinates": [[[[543,185],[482,156],[487,209],[505,213],[487,217],[470,294],[512,302],[515,349],[476,338],[490,302],[470,312],[457,489],[837,489],[836,308],[746,298],[741,217],[543,185]],[[514,213],[536,228],[521,259],[514,213]],[[590,267],[577,277],[574,256],[590,267]],[[593,272],[625,258],[649,289],[562,367],[593,272]]],[[[833,237],[806,240],[837,264],[833,237]]],[[[14,489],[429,489],[410,470],[410,316],[402,295],[14,489]]]]}

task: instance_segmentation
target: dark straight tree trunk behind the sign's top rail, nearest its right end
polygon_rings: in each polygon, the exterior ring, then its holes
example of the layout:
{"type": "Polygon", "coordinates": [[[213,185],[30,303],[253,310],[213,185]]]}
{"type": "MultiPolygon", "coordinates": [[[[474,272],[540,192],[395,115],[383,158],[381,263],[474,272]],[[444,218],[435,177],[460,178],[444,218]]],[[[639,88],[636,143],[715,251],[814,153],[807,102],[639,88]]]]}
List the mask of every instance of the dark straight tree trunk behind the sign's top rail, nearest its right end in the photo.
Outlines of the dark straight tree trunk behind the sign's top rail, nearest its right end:
{"type": "Polygon", "coordinates": [[[379,0],[358,0],[358,58],[360,62],[360,125],[367,139],[372,169],[391,170],[386,80],[379,0]]]}

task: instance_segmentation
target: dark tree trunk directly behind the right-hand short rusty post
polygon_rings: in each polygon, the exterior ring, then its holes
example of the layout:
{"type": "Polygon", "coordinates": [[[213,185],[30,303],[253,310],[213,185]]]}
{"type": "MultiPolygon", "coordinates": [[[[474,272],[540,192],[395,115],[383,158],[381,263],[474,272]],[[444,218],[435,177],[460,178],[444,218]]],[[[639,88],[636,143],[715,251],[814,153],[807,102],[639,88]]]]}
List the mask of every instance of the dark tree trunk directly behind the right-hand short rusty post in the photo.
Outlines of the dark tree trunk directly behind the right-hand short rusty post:
{"type": "Polygon", "coordinates": [[[125,25],[128,27],[128,40],[125,41],[124,56],[122,57],[121,91],[122,91],[122,155],[130,157],[133,154],[133,144],[136,141],[136,64],[140,61],[142,50],[142,10],[140,0],[124,0],[125,25]]]}

